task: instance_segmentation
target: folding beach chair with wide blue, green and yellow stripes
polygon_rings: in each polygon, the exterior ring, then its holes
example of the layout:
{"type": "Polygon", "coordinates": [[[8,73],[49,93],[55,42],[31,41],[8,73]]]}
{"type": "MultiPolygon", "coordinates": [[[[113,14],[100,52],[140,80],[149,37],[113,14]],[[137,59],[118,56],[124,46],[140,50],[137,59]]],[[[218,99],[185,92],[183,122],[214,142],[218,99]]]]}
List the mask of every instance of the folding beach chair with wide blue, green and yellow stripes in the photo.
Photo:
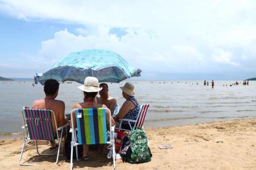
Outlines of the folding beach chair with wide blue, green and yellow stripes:
{"type": "Polygon", "coordinates": [[[71,111],[72,141],[71,141],[71,170],[73,169],[73,148],[76,147],[76,159],[78,160],[78,145],[109,144],[112,150],[113,169],[115,169],[115,140],[113,133],[115,126],[109,122],[110,137],[107,133],[107,111],[109,120],[111,112],[108,108],[81,108],[71,111]],[[76,118],[76,129],[74,129],[73,115],[76,118]],[[77,130],[77,133],[75,133],[77,130]]]}

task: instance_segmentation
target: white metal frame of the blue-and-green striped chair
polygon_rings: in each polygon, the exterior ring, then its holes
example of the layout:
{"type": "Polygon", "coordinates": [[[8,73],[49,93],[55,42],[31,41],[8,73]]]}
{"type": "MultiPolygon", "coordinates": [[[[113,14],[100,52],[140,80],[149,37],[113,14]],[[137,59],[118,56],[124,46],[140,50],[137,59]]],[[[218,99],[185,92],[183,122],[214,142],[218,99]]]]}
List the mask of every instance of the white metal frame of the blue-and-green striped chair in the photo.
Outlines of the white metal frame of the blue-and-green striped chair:
{"type": "MultiPolygon", "coordinates": [[[[77,142],[78,138],[76,136],[76,130],[77,128],[74,128],[74,120],[73,120],[73,113],[75,113],[75,110],[78,110],[79,108],[71,110],[71,132],[72,132],[72,140],[71,140],[71,159],[70,159],[70,169],[73,169],[73,149],[76,147],[76,160],[79,161],[78,159],[78,145],[79,143],[77,142]]],[[[84,109],[84,108],[83,108],[84,109]]],[[[86,108],[90,109],[90,108],[86,108]]],[[[111,111],[108,108],[103,108],[105,110],[109,111],[109,129],[110,129],[110,139],[107,141],[107,144],[109,144],[108,148],[112,149],[112,157],[113,157],[113,169],[115,169],[115,139],[114,139],[114,132],[115,132],[115,126],[112,126],[111,123],[111,111]]],[[[107,113],[107,112],[106,112],[107,113]]],[[[76,117],[76,115],[75,115],[76,117]]],[[[107,129],[106,129],[107,130],[107,129]]]]}

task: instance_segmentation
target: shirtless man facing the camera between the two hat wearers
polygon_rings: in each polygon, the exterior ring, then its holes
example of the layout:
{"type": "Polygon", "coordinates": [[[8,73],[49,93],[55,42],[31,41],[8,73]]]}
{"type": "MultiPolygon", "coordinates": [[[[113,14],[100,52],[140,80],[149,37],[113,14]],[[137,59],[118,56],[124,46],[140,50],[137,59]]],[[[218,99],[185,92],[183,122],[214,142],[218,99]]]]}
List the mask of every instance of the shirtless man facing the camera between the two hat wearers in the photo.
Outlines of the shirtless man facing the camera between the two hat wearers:
{"type": "Polygon", "coordinates": [[[113,115],[113,112],[115,111],[115,106],[117,105],[117,100],[115,98],[112,98],[108,94],[108,84],[101,83],[100,87],[102,90],[99,92],[100,97],[96,97],[97,103],[106,105],[107,108],[111,111],[111,115],[113,115]]]}

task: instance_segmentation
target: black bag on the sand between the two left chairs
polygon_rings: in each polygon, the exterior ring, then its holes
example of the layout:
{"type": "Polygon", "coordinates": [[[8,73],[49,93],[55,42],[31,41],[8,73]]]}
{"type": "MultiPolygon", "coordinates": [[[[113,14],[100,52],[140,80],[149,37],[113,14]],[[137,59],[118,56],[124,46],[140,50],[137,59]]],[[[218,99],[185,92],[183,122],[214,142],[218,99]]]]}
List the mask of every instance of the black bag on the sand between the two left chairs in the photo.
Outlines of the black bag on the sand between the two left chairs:
{"type": "MultiPolygon", "coordinates": [[[[67,128],[67,132],[69,132],[70,128],[67,128]]],[[[72,133],[67,133],[67,139],[65,141],[65,155],[66,158],[69,160],[71,157],[71,140],[72,140],[72,133]]],[[[83,156],[83,145],[78,145],[78,157],[83,156]]],[[[76,159],[76,147],[73,149],[73,159],[76,159]]]]}

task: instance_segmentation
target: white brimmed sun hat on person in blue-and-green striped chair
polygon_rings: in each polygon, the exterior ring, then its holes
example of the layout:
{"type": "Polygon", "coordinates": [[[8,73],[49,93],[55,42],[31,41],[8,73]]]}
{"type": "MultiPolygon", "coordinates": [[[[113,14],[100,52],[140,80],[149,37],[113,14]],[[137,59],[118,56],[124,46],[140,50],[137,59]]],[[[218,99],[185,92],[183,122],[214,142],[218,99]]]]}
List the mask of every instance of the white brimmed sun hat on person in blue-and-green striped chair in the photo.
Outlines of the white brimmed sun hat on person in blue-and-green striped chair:
{"type": "Polygon", "coordinates": [[[84,84],[79,86],[78,89],[85,92],[98,92],[102,90],[102,88],[99,87],[98,79],[90,76],[84,79],[84,84]]]}

